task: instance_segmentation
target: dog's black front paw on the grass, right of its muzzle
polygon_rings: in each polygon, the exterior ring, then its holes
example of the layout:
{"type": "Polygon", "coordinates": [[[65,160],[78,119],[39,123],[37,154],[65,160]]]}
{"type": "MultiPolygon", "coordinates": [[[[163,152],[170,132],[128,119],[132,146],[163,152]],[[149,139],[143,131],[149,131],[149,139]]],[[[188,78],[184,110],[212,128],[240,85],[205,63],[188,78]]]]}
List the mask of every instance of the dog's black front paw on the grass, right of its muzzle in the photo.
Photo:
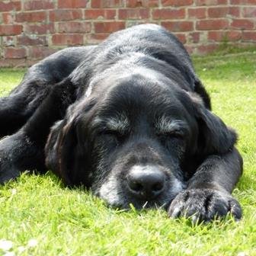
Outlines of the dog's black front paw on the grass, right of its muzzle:
{"type": "Polygon", "coordinates": [[[168,209],[168,216],[192,216],[193,222],[209,222],[228,213],[237,220],[241,219],[242,209],[238,201],[228,193],[212,189],[184,190],[174,198],[168,209]]]}

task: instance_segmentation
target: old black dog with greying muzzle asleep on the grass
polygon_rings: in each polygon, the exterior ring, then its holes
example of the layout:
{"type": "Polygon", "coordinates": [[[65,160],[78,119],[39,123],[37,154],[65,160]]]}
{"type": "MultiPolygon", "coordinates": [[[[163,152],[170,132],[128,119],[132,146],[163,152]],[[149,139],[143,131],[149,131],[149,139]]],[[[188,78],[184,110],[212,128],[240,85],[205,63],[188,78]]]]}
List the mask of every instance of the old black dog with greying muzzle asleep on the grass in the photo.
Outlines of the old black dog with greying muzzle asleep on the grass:
{"type": "Polygon", "coordinates": [[[165,206],[173,217],[242,216],[235,132],[184,46],[154,24],[32,66],[0,101],[0,181],[52,169],[111,206],[165,206]]]}

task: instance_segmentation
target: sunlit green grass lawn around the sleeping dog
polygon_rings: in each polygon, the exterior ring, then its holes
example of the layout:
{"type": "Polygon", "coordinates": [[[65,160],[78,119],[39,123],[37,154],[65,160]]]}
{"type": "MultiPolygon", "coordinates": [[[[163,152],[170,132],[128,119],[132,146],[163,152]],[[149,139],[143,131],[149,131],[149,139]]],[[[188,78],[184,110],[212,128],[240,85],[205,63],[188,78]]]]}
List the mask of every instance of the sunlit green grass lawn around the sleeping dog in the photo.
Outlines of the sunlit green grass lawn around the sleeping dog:
{"type": "MultiPolygon", "coordinates": [[[[213,111],[239,134],[245,171],[234,196],[242,221],[193,226],[163,210],[122,212],[53,174],[23,174],[0,189],[0,239],[16,255],[256,255],[256,54],[194,58],[213,111]],[[36,239],[34,246],[31,239],[36,239]],[[23,251],[23,252],[21,252],[23,251]]],[[[0,71],[6,95],[24,71],[0,71]]],[[[1,124],[2,125],[2,124],[1,124]]],[[[32,240],[33,241],[33,240],[32,240]]],[[[1,242],[0,242],[1,244],[1,242]]],[[[5,254],[1,251],[0,254],[5,254]]]]}

